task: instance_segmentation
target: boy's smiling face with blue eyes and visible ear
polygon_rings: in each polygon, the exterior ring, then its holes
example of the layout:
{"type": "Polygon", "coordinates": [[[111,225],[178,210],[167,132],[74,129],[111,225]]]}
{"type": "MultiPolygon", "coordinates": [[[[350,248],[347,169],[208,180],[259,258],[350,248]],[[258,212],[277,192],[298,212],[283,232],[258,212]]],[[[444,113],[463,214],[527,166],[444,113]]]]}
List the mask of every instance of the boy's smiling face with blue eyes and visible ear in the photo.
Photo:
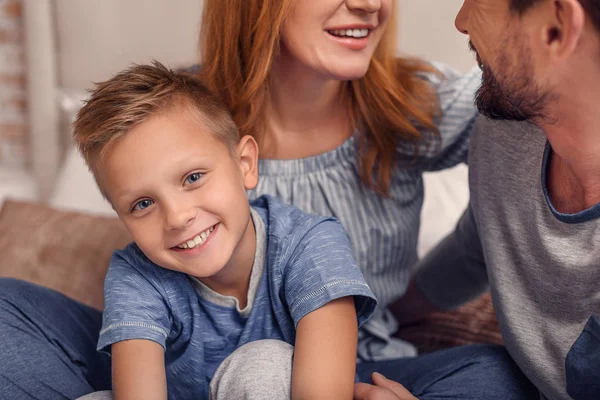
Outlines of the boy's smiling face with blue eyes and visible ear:
{"type": "Polygon", "coordinates": [[[237,274],[229,266],[252,267],[245,190],[256,186],[258,155],[248,136],[232,154],[200,119],[182,108],[135,125],[110,148],[98,178],[152,262],[219,290],[237,274]]]}

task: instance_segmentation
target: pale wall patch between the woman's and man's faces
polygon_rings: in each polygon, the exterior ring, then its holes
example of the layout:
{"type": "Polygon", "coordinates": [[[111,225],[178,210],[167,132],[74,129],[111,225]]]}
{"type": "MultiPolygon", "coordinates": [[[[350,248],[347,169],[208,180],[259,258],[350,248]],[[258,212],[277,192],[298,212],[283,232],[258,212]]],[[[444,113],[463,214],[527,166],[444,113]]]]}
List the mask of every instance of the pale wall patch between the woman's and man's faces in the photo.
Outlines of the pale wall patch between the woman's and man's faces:
{"type": "Polygon", "coordinates": [[[403,53],[446,62],[461,71],[468,71],[475,65],[468,51],[467,36],[454,27],[462,0],[396,1],[398,41],[403,53]]]}

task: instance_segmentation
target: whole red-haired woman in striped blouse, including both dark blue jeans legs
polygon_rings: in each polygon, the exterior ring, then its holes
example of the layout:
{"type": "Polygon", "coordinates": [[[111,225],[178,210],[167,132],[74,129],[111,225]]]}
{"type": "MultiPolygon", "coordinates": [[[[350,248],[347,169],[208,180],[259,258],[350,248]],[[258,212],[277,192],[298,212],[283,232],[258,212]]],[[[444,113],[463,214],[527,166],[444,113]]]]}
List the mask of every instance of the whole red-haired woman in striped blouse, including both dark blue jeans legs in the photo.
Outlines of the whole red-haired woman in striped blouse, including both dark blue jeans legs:
{"type": "MultiPolygon", "coordinates": [[[[422,173],[465,159],[479,81],[397,59],[393,15],[392,0],[207,0],[200,74],[259,142],[250,196],[276,194],[345,226],[379,299],[361,331],[360,378],[384,372],[422,398],[520,398],[502,348],[399,359],[415,350],[392,338],[386,306],[417,261],[422,173]]],[[[95,352],[99,311],[23,282],[0,286],[3,397],[110,387],[110,362],[95,352]]]]}

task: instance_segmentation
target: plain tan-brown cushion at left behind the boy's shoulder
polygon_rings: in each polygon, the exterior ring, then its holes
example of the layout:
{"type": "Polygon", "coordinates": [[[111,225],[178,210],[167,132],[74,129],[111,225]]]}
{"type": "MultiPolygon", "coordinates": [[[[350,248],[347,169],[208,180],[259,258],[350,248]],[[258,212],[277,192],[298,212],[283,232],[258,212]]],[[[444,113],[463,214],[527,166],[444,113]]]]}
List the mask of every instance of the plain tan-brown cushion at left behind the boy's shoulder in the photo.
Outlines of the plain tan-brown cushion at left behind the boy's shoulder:
{"type": "Polygon", "coordinates": [[[101,309],[110,256],[130,241],[117,218],[7,200],[0,211],[0,277],[37,283],[101,309]]]}

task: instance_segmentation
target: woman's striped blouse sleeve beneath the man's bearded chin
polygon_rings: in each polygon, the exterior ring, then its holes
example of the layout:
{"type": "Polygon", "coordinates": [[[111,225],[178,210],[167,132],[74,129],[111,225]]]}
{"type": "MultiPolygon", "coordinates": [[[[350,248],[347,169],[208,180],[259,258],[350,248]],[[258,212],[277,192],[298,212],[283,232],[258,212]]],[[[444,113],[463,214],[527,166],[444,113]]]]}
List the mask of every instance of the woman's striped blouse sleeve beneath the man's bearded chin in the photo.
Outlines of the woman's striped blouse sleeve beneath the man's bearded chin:
{"type": "Polygon", "coordinates": [[[475,93],[481,84],[481,71],[474,67],[466,74],[453,68],[434,63],[440,76],[428,75],[427,80],[435,88],[441,117],[437,124],[440,146],[426,165],[426,170],[437,171],[467,162],[469,139],[478,115],[475,93]]]}

